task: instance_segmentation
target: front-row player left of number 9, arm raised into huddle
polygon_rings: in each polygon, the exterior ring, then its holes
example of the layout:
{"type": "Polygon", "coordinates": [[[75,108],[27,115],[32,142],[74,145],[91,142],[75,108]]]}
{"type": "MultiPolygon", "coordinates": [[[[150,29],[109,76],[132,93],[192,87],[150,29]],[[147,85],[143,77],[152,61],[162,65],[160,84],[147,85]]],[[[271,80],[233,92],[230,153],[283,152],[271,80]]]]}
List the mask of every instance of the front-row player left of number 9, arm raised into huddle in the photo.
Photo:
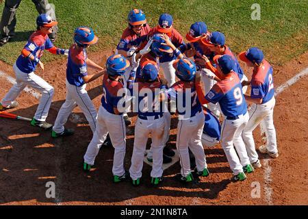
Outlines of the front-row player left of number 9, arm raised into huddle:
{"type": "Polygon", "coordinates": [[[177,114],[179,115],[179,123],[177,125],[177,150],[179,151],[181,173],[177,175],[177,179],[183,183],[191,183],[194,181],[192,170],[190,168],[190,156],[188,148],[196,158],[196,170],[194,174],[197,177],[207,177],[207,163],[205,153],[201,143],[205,115],[200,102],[196,98],[196,90],[194,77],[196,75],[196,65],[192,60],[184,57],[179,49],[164,35],[163,44],[169,46],[177,57],[173,63],[176,70],[175,75],[180,79],[174,83],[167,91],[168,99],[175,99],[177,103],[177,114]],[[186,96],[188,95],[188,96],[186,96]]]}

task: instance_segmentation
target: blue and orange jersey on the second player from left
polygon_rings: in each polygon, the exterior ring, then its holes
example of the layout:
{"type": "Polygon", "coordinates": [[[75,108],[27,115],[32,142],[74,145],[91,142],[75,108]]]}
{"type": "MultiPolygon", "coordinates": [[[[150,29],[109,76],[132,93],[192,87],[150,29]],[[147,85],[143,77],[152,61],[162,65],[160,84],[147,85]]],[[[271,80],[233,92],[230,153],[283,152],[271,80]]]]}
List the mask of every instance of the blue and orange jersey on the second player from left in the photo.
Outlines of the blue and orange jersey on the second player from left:
{"type": "Polygon", "coordinates": [[[86,49],[77,47],[76,44],[70,46],[66,68],[66,79],[68,83],[77,87],[84,85],[84,79],[88,75],[86,49]]]}

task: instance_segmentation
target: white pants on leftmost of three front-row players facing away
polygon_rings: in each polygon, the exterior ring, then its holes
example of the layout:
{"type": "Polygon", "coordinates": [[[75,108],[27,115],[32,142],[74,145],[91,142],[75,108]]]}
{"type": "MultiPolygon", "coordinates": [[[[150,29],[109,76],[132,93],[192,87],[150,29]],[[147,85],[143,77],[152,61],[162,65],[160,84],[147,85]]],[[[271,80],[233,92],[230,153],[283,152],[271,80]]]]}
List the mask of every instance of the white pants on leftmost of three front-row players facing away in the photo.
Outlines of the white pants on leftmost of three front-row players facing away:
{"type": "Polygon", "coordinates": [[[107,133],[109,133],[110,140],[114,146],[112,174],[123,176],[125,174],[124,157],[126,145],[126,128],[123,115],[111,114],[110,112],[107,112],[103,106],[99,107],[97,129],[95,129],[93,138],[88,145],[86,154],[84,155],[84,162],[94,165],[95,157],[97,157],[101,145],[106,140],[107,133]]]}

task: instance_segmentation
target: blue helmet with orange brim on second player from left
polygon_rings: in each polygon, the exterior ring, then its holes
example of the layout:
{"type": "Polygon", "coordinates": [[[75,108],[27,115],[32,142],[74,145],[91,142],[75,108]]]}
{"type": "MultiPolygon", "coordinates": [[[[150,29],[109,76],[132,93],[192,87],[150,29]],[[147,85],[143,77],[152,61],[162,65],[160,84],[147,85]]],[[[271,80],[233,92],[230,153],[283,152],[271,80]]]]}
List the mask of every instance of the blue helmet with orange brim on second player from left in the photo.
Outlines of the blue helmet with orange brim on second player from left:
{"type": "Polygon", "coordinates": [[[97,43],[97,36],[95,36],[93,30],[90,27],[81,26],[77,27],[74,32],[74,41],[79,47],[86,47],[90,44],[97,43]]]}

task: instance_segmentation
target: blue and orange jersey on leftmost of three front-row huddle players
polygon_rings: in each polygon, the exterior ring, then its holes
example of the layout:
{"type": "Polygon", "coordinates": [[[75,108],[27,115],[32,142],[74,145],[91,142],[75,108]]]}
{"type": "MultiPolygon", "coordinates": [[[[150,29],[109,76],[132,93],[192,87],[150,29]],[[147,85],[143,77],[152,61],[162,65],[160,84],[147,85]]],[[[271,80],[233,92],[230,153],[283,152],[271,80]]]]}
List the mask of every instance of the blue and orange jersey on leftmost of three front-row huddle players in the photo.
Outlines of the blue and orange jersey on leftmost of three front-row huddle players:
{"type": "Polygon", "coordinates": [[[107,74],[103,76],[103,96],[101,97],[101,105],[111,114],[114,114],[114,107],[117,107],[118,101],[123,98],[123,96],[118,96],[118,90],[121,88],[123,88],[123,81],[114,81],[110,79],[107,74]]]}

